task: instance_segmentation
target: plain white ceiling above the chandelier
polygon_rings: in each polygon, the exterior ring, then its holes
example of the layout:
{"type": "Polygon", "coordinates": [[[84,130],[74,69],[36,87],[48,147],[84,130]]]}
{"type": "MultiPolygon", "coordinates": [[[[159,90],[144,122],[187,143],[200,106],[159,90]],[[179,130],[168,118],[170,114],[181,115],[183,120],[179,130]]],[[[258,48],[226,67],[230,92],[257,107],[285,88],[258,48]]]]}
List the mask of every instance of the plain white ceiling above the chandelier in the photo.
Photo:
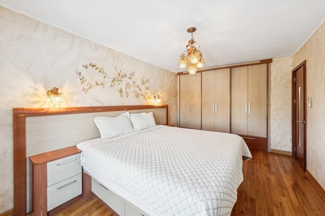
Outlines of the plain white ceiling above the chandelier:
{"type": "Polygon", "coordinates": [[[0,0],[0,6],[171,70],[196,27],[205,67],[295,54],[324,0],[0,0]]]}

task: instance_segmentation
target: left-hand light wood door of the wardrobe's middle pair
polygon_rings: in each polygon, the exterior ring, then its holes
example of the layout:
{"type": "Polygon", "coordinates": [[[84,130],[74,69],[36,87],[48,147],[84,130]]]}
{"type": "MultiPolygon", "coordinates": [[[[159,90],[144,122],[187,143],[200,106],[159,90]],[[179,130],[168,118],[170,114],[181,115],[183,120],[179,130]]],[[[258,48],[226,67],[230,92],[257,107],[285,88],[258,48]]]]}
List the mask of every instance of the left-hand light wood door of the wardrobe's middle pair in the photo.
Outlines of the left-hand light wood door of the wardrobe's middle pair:
{"type": "Polygon", "coordinates": [[[215,131],[215,70],[202,73],[202,130],[215,131]]]}

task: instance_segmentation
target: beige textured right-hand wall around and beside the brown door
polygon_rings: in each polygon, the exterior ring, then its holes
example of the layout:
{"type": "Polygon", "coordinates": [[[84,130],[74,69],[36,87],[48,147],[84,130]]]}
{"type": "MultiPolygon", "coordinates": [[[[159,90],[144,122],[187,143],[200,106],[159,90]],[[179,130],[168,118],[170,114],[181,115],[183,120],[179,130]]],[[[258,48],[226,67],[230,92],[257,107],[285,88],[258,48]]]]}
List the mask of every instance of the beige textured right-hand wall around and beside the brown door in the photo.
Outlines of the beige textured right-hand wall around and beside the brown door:
{"type": "Polygon", "coordinates": [[[293,56],[293,68],[307,60],[307,169],[325,188],[325,23],[293,56]]]}

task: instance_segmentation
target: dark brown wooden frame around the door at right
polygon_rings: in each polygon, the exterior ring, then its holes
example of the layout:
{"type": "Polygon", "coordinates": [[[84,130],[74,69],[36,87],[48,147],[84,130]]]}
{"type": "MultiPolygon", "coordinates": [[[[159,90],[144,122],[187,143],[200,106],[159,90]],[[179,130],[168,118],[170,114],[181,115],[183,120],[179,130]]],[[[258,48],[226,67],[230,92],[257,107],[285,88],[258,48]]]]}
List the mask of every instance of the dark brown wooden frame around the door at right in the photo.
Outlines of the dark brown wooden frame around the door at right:
{"type": "Polygon", "coordinates": [[[296,73],[296,71],[303,66],[304,68],[304,89],[303,89],[303,94],[304,94],[304,120],[305,120],[305,124],[304,124],[304,141],[303,141],[303,145],[304,145],[304,168],[303,170],[306,171],[307,168],[307,86],[306,86],[306,74],[307,74],[307,67],[306,67],[306,63],[307,61],[303,61],[302,63],[300,63],[298,66],[296,66],[293,70],[292,70],[292,76],[291,76],[291,86],[292,86],[292,90],[291,90],[291,104],[292,104],[292,110],[291,110],[291,124],[292,124],[292,157],[296,158],[296,151],[295,151],[295,147],[296,147],[296,105],[294,103],[294,98],[295,98],[295,81],[294,81],[294,75],[296,73]]]}

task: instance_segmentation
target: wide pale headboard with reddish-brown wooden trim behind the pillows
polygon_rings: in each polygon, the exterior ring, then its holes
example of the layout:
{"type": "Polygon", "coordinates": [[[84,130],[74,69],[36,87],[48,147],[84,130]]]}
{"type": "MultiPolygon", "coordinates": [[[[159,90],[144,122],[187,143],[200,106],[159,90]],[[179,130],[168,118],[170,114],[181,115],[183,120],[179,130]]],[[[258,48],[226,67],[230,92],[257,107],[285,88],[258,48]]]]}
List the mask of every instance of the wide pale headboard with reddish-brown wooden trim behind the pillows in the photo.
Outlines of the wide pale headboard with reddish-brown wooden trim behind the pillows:
{"type": "Polygon", "coordinates": [[[168,105],[64,107],[60,109],[13,108],[14,215],[31,211],[31,165],[28,157],[76,146],[100,137],[93,118],[153,112],[156,124],[168,124],[168,105]]]}

